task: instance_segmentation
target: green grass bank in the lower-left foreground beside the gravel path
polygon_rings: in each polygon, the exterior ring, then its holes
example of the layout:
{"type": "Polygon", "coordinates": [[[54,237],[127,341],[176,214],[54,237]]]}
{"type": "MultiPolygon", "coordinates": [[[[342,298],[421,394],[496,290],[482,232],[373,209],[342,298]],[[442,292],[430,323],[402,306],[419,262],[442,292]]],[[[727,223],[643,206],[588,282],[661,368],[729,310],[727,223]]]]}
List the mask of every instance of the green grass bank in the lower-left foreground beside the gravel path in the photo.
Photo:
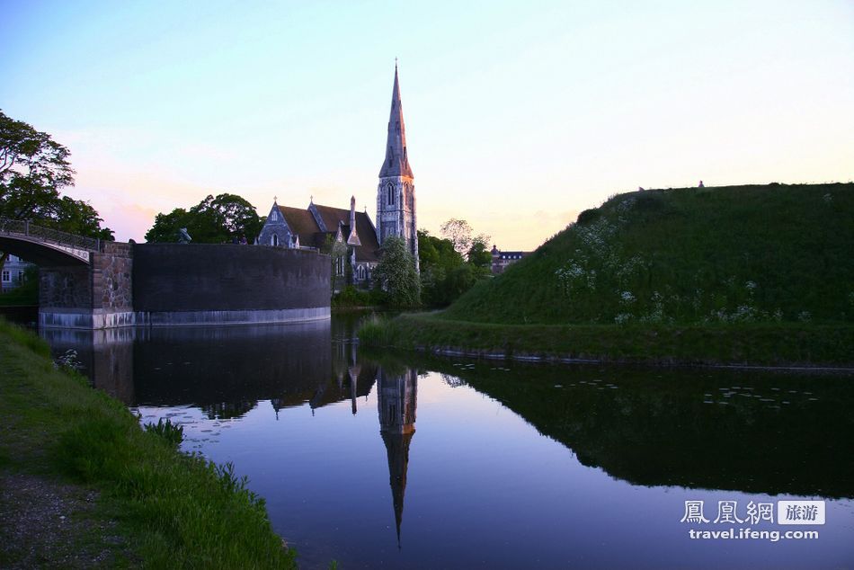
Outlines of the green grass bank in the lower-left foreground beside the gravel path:
{"type": "MultiPolygon", "coordinates": [[[[87,524],[114,522],[121,544],[107,548],[94,566],[295,566],[262,498],[230,466],[179,452],[174,429],[142,429],[118,400],[76,373],[57,370],[47,344],[4,321],[0,361],[0,475],[96,496],[87,524]]],[[[71,539],[76,543],[67,548],[91,549],[98,534],[71,539]]],[[[4,544],[0,566],[26,565],[25,556],[22,545],[4,544]]],[[[51,558],[36,562],[68,566],[51,558]]]]}

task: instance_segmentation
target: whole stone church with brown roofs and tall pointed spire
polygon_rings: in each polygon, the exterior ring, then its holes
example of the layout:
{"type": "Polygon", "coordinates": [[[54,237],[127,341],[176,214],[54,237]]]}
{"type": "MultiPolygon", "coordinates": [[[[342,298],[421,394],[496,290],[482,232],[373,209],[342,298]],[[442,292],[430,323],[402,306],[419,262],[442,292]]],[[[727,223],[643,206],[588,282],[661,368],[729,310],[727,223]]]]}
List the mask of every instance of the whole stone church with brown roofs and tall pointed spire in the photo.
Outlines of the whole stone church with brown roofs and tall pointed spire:
{"type": "Polygon", "coordinates": [[[349,276],[354,285],[367,286],[379,263],[380,247],[391,236],[403,237],[418,270],[418,234],[415,218],[415,185],[406,149],[404,111],[395,66],[395,85],[388,119],[386,158],[379,170],[377,225],[367,212],[315,204],[307,209],[280,206],[273,200],[267,221],[256,244],[274,247],[313,248],[334,255],[334,271],[349,276]],[[349,266],[349,271],[348,267],[349,266]]]}

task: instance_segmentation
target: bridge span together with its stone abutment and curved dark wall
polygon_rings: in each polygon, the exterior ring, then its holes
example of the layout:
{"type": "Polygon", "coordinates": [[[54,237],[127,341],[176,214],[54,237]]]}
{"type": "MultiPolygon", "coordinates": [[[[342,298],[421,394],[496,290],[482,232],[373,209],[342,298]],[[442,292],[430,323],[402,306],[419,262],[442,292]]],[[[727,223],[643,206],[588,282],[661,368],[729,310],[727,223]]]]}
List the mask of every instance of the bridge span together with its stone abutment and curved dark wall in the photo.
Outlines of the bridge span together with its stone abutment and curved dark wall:
{"type": "Polygon", "coordinates": [[[260,245],[134,244],[0,218],[0,251],[39,266],[41,327],[329,318],[328,255],[260,245]]]}

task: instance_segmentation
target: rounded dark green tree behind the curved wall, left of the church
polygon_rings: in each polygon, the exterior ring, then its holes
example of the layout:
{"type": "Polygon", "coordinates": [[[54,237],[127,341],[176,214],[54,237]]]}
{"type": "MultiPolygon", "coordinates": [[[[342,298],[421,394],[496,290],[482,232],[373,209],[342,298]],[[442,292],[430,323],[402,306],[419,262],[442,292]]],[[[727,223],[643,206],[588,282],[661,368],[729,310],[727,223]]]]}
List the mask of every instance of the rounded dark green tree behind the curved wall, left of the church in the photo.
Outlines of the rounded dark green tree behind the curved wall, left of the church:
{"type": "Polygon", "coordinates": [[[175,208],[168,214],[157,214],[146,241],[176,242],[179,229],[186,227],[196,244],[223,244],[241,238],[252,243],[263,225],[264,218],[244,198],[229,193],[214,198],[209,194],[189,210],[175,208]]]}

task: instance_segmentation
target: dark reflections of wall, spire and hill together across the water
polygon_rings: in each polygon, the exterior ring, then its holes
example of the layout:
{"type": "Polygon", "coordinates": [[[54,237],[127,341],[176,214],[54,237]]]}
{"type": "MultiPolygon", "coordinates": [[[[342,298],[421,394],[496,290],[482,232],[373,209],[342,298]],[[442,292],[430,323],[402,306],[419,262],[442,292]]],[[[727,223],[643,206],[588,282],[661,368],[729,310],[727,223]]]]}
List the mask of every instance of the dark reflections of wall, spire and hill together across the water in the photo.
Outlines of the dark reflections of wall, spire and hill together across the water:
{"type": "Polygon", "coordinates": [[[414,434],[412,365],[494,397],[584,465],[636,485],[854,496],[850,375],[511,369],[424,357],[409,357],[405,366],[383,354],[360,355],[357,322],[41,334],[56,353],[76,350],[95,387],[128,405],[191,405],[209,419],[240,418],[262,401],[277,418],[285,408],[307,403],[314,413],[345,400],[356,414],[359,398],[377,383],[396,518],[414,434]]]}

